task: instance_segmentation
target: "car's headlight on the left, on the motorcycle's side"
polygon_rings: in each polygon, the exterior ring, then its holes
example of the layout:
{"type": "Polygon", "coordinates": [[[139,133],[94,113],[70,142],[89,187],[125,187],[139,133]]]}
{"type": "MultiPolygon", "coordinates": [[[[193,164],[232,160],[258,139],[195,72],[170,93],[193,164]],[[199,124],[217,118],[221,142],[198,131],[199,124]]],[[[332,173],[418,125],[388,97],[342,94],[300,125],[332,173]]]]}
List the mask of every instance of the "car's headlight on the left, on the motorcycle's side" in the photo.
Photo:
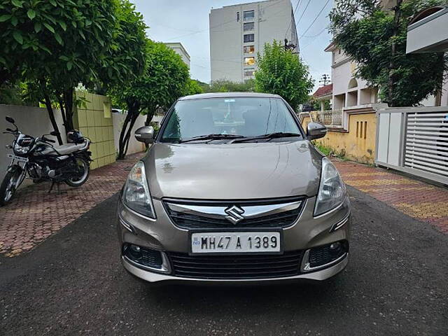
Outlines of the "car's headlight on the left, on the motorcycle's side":
{"type": "Polygon", "coordinates": [[[126,207],[136,211],[138,214],[155,218],[143,162],[139,161],[132,167],[131,172],[127,176],[122,199],[126,207]]]}

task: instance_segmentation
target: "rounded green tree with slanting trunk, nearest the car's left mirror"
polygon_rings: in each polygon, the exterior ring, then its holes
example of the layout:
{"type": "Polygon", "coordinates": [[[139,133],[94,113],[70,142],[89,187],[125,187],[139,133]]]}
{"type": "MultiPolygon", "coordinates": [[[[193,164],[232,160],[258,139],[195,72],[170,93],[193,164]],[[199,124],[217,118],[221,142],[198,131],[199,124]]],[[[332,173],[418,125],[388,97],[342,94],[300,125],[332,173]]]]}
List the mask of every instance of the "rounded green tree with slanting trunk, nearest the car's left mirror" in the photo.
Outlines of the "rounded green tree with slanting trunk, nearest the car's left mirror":
{"type": "Polygon", "coordinates": [[[167,109],[185,94],[192,85],[189,80],[188,66],[174,50],[164,43],[147,41],[146,70],[116,92],[114,98],[127,109],[118,144],[118,159],[125,158],[131,130],[139,114],[146,114],[145,125],[150,125],[157,109],[167,109]]]}

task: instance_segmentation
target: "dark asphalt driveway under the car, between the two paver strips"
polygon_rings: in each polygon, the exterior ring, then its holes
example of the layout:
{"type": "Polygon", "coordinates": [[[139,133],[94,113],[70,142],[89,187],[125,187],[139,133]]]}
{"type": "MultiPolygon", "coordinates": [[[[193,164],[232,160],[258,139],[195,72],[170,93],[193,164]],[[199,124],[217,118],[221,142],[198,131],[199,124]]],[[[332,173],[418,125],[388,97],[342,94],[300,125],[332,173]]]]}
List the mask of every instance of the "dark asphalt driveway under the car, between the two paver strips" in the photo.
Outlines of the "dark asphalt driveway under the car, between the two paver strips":
{"type": "Polygon", "coordinates": [[[448,236],[349,188],[349,267],[318,284],[153,288],[118,264],[116,196],[0,256],[1,335],[447,335],[448,236]]]}

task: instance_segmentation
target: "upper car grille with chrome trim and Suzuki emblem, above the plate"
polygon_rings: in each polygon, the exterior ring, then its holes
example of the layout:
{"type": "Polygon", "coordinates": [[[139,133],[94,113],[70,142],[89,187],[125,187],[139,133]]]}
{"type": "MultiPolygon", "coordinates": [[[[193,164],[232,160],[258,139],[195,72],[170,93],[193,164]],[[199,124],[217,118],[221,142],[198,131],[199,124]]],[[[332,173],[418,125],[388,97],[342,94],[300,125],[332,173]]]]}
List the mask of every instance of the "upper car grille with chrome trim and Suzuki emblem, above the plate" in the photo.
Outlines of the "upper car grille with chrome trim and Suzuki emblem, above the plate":
{"type": "MultiPolygon", "coordinates": [[[[171,218],[174,225],[176,225],[179,228],[183,229],[222,229],[222,228],[286,228],[290,225],[293,225],[297,218],[300,216],[300,213],[302,212],[303,206],[304,206],[304,200],[300,199],[293,199],[288,200],[288,202],[292,201],[301,201],[300,206],[296,209],[291,209],[288,211],[281,211],[276,214],[267,214],[266,216],[258,216],[256,218],[244,218],[241,221],[237,223],[231,223],[225,218],[225,214],[221,216],[221,218],[211,218],[207,215],[202,214],[192,214],[192,213],[186,213],[181,211],[176,211],[174,209],[171,209],[169,207],[168,202],[164,202],[165,209],[167,211],[167,214],[169,215],[169,218],[171,218]]],[[[283,200],[283,203],[286,202],[283,200]]],[[[197,203],[195,203],[197,204],[197,203]]],[[[208,207],[213,205],[213,202],[209,203],[200,203],[200,204],[207,204],[208,207]]],[[[247,205],[253,206],[257,204],[269,204],[269,201],[263,201],[261,202],[225,202],[218,205],[225,206],[225,207],[231,207],[233,204],[238,204],[241,206],[241,208],[244,209],[247,205]]],[[[278,201],[270,204],[281,204],[278,201]]],[[[222,207],[221,207],[222,208],[222,207]]]]}

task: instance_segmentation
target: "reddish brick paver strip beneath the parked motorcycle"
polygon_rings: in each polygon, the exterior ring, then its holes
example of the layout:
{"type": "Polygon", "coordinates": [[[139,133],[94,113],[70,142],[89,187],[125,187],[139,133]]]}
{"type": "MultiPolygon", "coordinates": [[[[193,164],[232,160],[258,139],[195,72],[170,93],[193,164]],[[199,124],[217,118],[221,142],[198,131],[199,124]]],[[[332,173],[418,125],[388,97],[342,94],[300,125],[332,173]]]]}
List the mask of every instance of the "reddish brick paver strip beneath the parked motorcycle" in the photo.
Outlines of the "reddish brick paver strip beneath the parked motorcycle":
{"type": "Polygon", "coordinates": [[[50,183],[38,183],[18,190],[13,201],[0,208],[0,253],[13,257],[29,251],[41,241],[120,190],[143,154],[92,170],[90,179],[79,188],[61,184],[60,192],[50,183]]]}

